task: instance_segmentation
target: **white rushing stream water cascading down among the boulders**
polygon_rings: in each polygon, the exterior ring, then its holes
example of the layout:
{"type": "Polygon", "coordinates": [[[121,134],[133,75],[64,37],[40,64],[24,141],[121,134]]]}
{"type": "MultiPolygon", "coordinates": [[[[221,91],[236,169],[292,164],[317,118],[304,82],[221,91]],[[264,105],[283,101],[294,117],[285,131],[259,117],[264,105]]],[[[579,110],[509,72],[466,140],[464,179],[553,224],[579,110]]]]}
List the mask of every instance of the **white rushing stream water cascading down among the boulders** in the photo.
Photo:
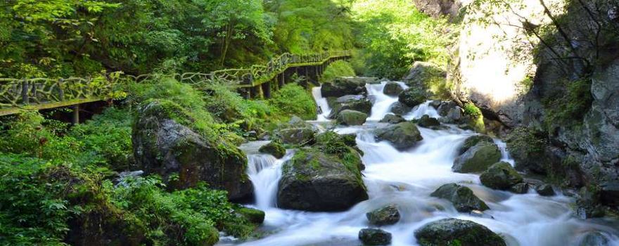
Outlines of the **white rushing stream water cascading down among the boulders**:
{"type": "MultiPolygon", "coordinates": [[[[384,83],[367,85],[369,95],[376,99],[372,121],[362,127],[335,127],[338,133],[357,133],[357,144],[364,152],[362,159],[366,169],[363,175],[369,200],[346,212],[279,209],[275,201],[281,164],[292,153],[288,151],[286,157],[276,160],[270,155],[256,153],[255,150],[266,142],[250,143],[244,145],[243,150],[248,153],[249,174],[257,198],[252,206],[266,213],[263,230],[267,233],[258,240],[222,240],[219,245],[361,245],[357,235],[360,229],[369,227],[366,212],[388,204],[397,205],[402,216],[397,224],[381,227],[393,234],[392,245],[418,245],[414,238],[417,228],[449,217],[483,224],[500,233],[510,246],[579,246],[582,238],[592,231],[606,235],[609,245],[619,245],[618,222],[611,219],[577,219],[570,209],[573,198],[564,195],[542,197],[533,190],[523,195],[492,190],[480,185],[477,174],[452,172],[457,149],[468,136],[474,134],[472,131],[455,127],[445,130],[420,127],[423,141],[406,151],[396,150],[388,142],[376,142],[372,131],[385,126],[376,120],[390,112],[391,105],[397,101],[397,98],[382,93],[383,86],[384,83]],[[457,212],[451,202],[430,197],[430,193],[445,183],[460,183],[471,188],[490,207],[485,212],[487,216],[457,212]]],[[[319,89],[314,89],[314,96],[318,105],[326,105],[326,100],[319,96],[319,89]]],[[[321,115],[324,116],[325,111],[323,108],[321,115]]],[[[426,114],[438,117],[436,110],[424,103],[414,108],[406,118],[419,118],[426,114]]],[[[323,120],[326,121],[326,117],[323,120]]],[[[504,143],[496,142],[502,149],[502,159],[513,164],[504,143]]]]}

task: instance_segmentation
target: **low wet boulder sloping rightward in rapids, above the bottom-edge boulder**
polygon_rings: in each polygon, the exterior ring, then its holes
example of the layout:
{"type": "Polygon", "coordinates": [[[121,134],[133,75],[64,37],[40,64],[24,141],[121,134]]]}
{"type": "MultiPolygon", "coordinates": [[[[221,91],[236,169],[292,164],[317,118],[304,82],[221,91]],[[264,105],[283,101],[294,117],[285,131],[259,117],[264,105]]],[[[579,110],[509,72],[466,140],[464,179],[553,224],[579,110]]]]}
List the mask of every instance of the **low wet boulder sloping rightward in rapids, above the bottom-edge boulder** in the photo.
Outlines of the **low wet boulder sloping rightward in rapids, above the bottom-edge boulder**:
{"type": "Polygon", "coordinates": [[[430,196],[449,200],[458,212],[490,209],[483,200],[473,194],[473,190],[457,183],[446,183],[431,193],[430,196]]]}

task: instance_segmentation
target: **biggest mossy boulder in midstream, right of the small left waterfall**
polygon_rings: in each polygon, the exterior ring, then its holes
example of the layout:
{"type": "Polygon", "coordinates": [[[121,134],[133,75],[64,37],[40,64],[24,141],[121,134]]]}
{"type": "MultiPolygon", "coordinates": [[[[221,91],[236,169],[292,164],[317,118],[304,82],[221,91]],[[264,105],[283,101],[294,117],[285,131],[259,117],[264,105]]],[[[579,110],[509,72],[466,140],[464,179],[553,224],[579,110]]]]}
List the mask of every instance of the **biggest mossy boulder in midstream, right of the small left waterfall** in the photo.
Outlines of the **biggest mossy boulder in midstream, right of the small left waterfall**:
{"type": "Polygon", "coordinates": [[[358,154],[340,158],[319,148],[298,150],[283,164],[277,204],[283,209],[343,211],[368,199],[358,154]]]}

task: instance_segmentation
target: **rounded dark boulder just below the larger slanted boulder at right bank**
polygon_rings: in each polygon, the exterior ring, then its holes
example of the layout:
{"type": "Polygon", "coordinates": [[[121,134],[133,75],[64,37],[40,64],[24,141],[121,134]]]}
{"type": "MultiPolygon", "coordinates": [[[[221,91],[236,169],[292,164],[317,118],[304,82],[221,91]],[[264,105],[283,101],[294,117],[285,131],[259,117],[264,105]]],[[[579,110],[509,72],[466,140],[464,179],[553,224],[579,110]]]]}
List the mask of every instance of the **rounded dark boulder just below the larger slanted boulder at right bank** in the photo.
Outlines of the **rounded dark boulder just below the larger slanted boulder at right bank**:
{"type": "Polygon", "coordinates": [[[507,162],[497,162],[479,176],[481,183],[496,190],[508,190],[523,181],[523,177],[507,162]]]}

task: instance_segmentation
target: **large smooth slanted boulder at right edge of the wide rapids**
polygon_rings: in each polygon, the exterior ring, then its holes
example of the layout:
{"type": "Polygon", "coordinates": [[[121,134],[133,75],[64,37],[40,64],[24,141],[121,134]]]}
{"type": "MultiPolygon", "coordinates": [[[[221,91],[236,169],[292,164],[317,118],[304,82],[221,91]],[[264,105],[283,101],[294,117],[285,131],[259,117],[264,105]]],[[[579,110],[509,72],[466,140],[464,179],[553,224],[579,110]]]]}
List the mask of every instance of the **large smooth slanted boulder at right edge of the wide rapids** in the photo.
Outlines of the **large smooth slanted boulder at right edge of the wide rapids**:
{"type": "Polygon", "coordinates": [[[480,142],[454,160],[452,170],[459,173],[485,171],[501,160],[501,150],[494,143],[480,142]]]}

